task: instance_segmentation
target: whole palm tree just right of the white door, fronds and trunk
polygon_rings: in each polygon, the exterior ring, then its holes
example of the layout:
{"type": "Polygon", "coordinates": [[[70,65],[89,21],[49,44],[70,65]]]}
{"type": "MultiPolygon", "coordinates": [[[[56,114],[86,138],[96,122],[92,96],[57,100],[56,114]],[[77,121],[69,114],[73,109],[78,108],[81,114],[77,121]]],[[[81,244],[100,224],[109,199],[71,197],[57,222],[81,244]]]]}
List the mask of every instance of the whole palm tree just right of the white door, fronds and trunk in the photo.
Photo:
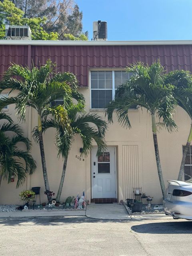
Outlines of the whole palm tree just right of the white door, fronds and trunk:
{"type": "Polygon", "coordinates": [[[128,110],[133,105],[137,105],[138,108],[146,108],[150,113],[158,176],[163,198],[166,198],[158,150],[156,118],[162,120],[168,131],[171,132],[176,128],[172,117],[175,104],[172,95],[173,86],[165,83],[166,75],[159,61],[154,62],[151,66],[138,62],[127,67],[126,71],[132,72],[134,75],[126,84],[117,89],[115,99],[107,107],[106,115],[112,122],[112,115],[116,110],[118,122],[126,128],[131,128],[128,110]]]}

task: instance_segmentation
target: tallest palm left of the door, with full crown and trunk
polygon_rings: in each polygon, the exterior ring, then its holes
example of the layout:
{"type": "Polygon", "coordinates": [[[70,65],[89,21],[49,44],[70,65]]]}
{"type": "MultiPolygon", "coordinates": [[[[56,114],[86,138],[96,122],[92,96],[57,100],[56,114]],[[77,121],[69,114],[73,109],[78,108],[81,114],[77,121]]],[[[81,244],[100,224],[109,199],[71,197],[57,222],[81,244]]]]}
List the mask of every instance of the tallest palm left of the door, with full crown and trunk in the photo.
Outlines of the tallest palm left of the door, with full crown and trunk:
{"type": "MultiPolygon", "coordinates": [[[[50,60],[47,60],[46,64],[40,66],[39,69],[32,65],[31,70],[27,66],[23,67],[13,64],[5,73],[0,86],[1,91],[7,88],[10,88],[11,91],[19,91],[16,97],[2,98],[0,100],[0,108],[15,103],[17,114],[22,121],[25,120],[26,107],[32,107],[38,114],[38,141],[44,184],[45,189],[48,191],[50,191],[50,186],[44,154],[42,121],[46,120],[47,116],[51,114],[68,131],[70,126],[65,108],[62,108],[60,105],[52,106],[51,102],[62,97],[64,104],[67,105],[72,100],[72,97],[76,100],[83,99],[82,94],[77,90],[78,81],[76,76],[69,72],[59,72],[56,74],[54,73],[55,66],[56,64],[52,64],[50,60]]],[[[47,197],[48,202],[51,202],[52,199],[49,194],[47,197]]]]}

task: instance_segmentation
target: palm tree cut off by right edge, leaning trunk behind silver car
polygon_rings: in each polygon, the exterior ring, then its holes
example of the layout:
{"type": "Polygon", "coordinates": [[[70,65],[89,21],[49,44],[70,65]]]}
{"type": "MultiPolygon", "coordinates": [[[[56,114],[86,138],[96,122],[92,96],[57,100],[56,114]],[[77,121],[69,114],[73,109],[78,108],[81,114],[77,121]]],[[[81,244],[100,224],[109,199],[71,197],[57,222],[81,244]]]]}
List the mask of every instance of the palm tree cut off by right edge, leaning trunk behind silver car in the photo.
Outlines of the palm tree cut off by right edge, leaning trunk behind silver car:
{"type": "MultiPolygon", "coordinates": [[[[167,83],[173,84],[174,97],[177,100],[178,106],[183,108],[189,115],[192,122],[192,74],[186,70],[175,70],[169,72],[167,76],[167,83]]],[[[192,141],[192,123],[190,132],[186,142],[186,146],[183,151],[182,161],[178,174],[178,180],[182,180],[184,174],[184,164],[186,160],[187,152],[190,148],[192,141]]]]}

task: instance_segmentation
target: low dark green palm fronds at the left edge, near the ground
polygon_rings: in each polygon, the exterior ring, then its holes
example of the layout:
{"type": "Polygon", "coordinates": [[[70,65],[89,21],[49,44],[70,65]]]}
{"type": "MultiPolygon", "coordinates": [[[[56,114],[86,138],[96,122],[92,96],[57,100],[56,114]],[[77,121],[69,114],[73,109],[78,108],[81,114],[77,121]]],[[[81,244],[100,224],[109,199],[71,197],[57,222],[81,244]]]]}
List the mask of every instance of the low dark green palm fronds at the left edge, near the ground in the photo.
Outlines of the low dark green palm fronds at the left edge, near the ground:
{"type": "Polygon", "coordinates": [[[36,162],[29,153],[31,142],[23,136],[22,128],[18,124],[13,124],[10,116],[0,113],[0,120],[5,120],[0,125],[0,185],[2,178],[10,183],[14,176],[17,178],[18,188],[25,181],[26,174],[31,175],[36,170],[36,162]],[[13,135],[8,136],[8,132],[13,132],[13,135]],[[20,142],[25,144],[26,150],[18,148],[20,142]]]}

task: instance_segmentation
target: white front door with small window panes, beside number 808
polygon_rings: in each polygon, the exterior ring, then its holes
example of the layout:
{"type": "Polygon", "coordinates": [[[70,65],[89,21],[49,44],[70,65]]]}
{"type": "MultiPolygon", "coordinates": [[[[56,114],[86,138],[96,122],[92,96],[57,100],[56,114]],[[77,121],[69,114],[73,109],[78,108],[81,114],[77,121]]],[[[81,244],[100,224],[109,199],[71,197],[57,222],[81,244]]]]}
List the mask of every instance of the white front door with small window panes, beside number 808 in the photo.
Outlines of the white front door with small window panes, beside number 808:
{"type": "Polygon", "coordinates": [[[92,198],[116,198],[115,148],[107,148],[96,156],[97,148],[92,150],[92,198]]]}

